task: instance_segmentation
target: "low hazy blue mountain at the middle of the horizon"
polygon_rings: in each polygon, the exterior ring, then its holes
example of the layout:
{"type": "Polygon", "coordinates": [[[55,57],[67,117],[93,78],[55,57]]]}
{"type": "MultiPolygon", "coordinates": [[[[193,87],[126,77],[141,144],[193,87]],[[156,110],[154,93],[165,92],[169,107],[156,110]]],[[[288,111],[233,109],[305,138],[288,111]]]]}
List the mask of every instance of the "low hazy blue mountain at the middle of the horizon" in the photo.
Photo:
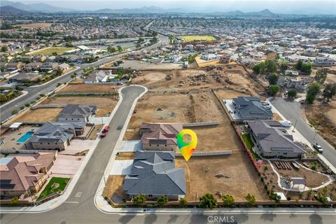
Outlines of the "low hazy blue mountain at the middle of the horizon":
{"type": "Polygon", "coordinates": [[[121,13],[121,14],[146,14],[146,13],[182,13],[185,12],[182,8],[160,8],[158,6],[144,6],[141,8],[120,8],[111,9],[103,8],[95,10],[94,13],[121,13]]]}

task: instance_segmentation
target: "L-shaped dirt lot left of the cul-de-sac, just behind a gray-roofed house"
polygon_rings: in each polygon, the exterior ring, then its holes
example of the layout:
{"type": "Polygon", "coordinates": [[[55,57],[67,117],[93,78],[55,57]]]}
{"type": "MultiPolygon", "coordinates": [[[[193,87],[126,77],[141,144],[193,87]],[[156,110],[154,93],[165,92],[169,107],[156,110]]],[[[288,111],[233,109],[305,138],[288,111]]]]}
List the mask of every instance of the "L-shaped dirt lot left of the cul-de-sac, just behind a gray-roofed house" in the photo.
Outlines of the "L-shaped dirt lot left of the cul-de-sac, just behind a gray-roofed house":
{"type": "Polygon", "coordinates": [[[43,104],[85,104],[97,105],[97,117],[108,116],[118,103],[116,97],[50,97],[43,104]]]}

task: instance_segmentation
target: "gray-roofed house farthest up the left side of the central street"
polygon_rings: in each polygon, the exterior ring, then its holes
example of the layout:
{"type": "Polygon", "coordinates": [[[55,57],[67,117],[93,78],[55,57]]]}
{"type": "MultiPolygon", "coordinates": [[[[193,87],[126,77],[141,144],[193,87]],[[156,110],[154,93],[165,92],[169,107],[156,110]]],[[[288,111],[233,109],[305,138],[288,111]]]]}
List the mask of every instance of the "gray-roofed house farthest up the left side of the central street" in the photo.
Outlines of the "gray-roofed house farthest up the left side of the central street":
{"type": "Polygon", "coordinates": [[[57,121],[89,122],[96,112],[97,106],[68,104],[59,113],[57,121]]]}

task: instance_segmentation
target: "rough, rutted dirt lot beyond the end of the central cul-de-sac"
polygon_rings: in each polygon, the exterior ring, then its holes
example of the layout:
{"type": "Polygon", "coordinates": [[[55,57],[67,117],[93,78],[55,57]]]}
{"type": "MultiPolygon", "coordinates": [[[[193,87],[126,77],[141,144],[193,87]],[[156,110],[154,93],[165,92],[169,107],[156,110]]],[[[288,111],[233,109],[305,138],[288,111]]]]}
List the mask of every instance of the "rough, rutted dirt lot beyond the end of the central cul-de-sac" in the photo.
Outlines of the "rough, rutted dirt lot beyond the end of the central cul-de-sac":
{"type": "Polygon", "coordinates": [[[250,78],[241,66],[221,66],[216,69],[182,69],[173,71],[143,71],[132,83],[146,85],[151,92],[200,90],[204,88],[230,87],[257,95],[265,90],[250,78]],[[165,74],[165,76],[164,76],[165,74]],[[172,76],[169,79],[167,76],[172,76]],[[167,78],[168,79],[167,79],[167,78]]]}

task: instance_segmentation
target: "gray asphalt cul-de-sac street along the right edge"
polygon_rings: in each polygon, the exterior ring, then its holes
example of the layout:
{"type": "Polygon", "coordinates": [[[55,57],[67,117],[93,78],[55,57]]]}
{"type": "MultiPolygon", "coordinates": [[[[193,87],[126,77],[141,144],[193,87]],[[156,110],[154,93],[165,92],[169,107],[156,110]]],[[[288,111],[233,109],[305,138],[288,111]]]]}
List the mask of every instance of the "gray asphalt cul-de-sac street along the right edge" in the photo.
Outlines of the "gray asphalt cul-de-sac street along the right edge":
{"type": "Polygon", "coordinates": [[[290,120],[295,129],[297,129],[304,138],[306,138],[311,144],[318,143],[323,148],[323,155],[329,160],[329,162],[336,167],[336,150],[321,136],[315,134],[304,117],[302,116],[302,106],[299,102],[295,102],[288,99],[276,97],[271,100],[273,106],[275,106],[282,115],[290,120]]]}

